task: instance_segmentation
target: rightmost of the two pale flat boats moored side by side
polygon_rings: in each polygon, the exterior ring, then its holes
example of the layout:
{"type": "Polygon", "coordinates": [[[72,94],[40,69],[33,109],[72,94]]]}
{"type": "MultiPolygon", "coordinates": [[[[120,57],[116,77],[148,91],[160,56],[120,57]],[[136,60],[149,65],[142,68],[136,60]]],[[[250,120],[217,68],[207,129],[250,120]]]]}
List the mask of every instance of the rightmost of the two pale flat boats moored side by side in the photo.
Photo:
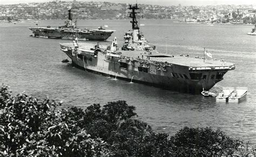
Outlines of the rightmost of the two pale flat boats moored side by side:
{"type": "Polygon", "coordinates": [[[246,98],[247,87],[237,87],[236,90],[228,98],[229,102],[239,102],[246,98]]]}

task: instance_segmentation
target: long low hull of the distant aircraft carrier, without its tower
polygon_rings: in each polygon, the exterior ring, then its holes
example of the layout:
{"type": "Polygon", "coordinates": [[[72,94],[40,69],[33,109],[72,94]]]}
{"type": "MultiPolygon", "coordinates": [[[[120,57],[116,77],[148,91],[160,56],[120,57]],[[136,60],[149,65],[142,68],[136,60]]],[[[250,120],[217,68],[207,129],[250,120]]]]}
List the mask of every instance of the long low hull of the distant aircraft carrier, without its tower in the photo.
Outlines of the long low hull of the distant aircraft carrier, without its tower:
{"type": "Polygon", "coordinates": [[[46,28],[30,28],[35,37],[48,37],[48,38],[67,38],[72,39],[77,36],[78,39],[88,40],[106,40],[109,38],[113,31],[102,30],[65,30],[65,29],[46,29],[46,28]]]}

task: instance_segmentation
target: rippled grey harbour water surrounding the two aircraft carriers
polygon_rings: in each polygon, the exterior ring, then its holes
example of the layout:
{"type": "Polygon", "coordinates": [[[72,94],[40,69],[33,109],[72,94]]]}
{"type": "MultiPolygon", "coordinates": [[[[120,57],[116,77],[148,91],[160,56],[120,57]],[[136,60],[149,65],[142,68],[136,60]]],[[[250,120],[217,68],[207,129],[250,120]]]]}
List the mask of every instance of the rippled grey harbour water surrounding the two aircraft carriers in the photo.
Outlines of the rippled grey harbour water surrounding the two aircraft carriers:
{"type": "MultiPolygon", "coordinates": [[[[224,80],[213,87],[248,87],[247,99],[241,103],[218,103],[215,98],[183,94],[161,88],[129,83],[93,74],[62,63],[68,58],[59,43],[70,40],[29,37],[35,23],[0,23],[0,83],[11,86],[17,94],[26,91],[36,97],[64,100],[64,107],[85,108],[93,103],[126,100],[136,106],[138,119],[149,123],[154,131],[174,134],[184,126],[221,129],[232,137],[256,144],[256,37],[246,35],[253,26],[173,23],[170,20],[142,20],[141,30],[157,50],[170,54],[202,56],[204,47],[213,58],[235,63],[224,80]]],[[[41,21],[39,26],[58,26],[63,21],[41,21]]],[[[129,20],[78,21],[80,28],[107,24],[117,30],[114,36],[123,43],[123,33],[131,29],[129,20]]],[[[79,41],[82,43],[84,41],[79,41]]],[[[96,43],[96,42],[90,42],[96,43]]],[[[111,75],[115,75],[111,73],[111,75]]]]}

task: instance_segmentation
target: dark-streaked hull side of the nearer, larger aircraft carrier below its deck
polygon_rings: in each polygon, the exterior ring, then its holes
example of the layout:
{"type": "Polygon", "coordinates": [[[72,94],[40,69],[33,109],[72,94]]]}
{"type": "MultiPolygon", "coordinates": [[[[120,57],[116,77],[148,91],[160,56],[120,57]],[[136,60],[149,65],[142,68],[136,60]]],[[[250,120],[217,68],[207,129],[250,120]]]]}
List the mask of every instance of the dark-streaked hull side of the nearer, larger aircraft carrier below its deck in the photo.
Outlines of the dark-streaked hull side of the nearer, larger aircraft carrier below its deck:
{"type": "Polygon", "coordinates": [[[203,76],[207,75],[207,77],[192,80],[190,78],[191,71],[187,66],[173,64],[163,71],[152,64],[147,71],[144,71],[142,69],[139,70],[139,64],[128,65],[124,68],[117,60],[107,61],[106,55],[103,53],[98,53],[97,57],[93,57],[72,55],[72,50],[68,49],[63,51],[71,58],[73,65],[86,71],[184,93],[198,94],[203,91],[203,88],[206,91],[210,90],[218,81],[223,80],[223,78],[217,79],[211,78],[211,76],[216,76],[218,72],[225,73],[227,71],[200,71],[203,76]],[[174,77],[171,73],[176,73],[176,76],[174,77]],[[184,77],[184,74],[187,78],[184,77]]]}

